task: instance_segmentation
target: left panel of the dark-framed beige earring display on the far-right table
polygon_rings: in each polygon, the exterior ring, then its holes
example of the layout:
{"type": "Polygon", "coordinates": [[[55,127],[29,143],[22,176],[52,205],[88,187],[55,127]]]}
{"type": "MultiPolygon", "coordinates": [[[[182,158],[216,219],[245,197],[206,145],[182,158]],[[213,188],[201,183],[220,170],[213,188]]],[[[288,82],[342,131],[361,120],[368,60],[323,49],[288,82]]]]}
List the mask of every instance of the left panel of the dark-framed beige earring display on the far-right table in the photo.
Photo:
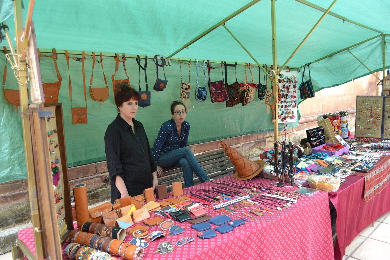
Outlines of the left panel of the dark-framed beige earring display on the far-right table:
{"type": "Polygon", "coordinates": [[[356,137],[383,138],[383,99],[383,96],[356,96],[356,137]]]}

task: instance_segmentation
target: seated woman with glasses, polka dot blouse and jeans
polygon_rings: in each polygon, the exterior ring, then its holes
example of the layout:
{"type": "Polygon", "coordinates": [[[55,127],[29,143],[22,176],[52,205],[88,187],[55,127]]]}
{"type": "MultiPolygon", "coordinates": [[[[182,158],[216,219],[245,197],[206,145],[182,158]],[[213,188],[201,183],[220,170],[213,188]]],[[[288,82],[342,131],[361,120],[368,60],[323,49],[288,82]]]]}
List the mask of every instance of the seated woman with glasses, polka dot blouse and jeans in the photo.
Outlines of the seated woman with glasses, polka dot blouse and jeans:
{"type": "Polygon", "coordinates": [[[161,177],[161,167],[183,168],[184,184],[186,187],[194,185],[193,172],[200,182],[211,180],[200,167],[190,148],[187,147],[190,124],[186,119],[187,109],[180,101],[171,104],[172,119],[160,127],[156,141],[154,141],[152,155],[157,164],[157,173],[161,177]]]}

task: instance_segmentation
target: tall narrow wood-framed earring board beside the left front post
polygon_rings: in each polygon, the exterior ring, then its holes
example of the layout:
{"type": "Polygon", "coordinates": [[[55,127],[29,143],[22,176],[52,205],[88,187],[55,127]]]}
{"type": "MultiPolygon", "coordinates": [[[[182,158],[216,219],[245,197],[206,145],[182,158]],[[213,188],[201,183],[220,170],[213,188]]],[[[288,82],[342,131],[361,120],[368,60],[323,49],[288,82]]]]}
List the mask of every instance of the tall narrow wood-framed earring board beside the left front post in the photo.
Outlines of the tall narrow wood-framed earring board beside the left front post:
{"type": "Polygon", "coordinates": [[[45,104],[45,110],[51,111],[46,117],[46,131],[50,155],[51,176],[53,177],[53,200],[57,215],[58,232],[63,242],[68,230],[73,230],[73,217],[67,176],[66,147],[61,103],[45,104]]]}

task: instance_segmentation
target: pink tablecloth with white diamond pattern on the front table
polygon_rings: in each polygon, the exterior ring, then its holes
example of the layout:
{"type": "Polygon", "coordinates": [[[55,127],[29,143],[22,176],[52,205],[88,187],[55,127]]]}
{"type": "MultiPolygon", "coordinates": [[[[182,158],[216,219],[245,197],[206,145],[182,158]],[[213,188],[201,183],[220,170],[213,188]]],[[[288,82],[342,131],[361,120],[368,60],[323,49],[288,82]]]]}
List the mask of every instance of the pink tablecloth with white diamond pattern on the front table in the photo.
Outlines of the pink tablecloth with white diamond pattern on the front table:
{"type": "MultiPolygon", "coordinates": [[[[215,180],[234,180],[232,175],[215,180]]],[[[271,180],[255,178],[245,181],[252,184],[262,183],[270,186],[271,180]]],[[[183,189],[184,195],[190,195],[190,191],[208,189],[215,186],[206,182],[190,188],[183,189]]],[[[258,185],[256,185],[258,186],[258,185]]],[[[277,187],[275,187],[277,188],[277,187]]],[[[280,189],[280,188],[279,188],[280,189]]],[[[285,191],[294,191],[296,187],[283,187],[285,191]]],[[[252,208],[252,207],[251,207],[252,208]]],[[[251,208],[246,208],[248,212],[251,208]]],[[[215,211],[208,209],[208,214],[217,216],[215,211]]],[[[144,259],[182,260],[182,259],[333,259],[332,229],[330,224],[328,193],[319,191],[314,195],[302,196],[297,204],[293,204],[281,211],[274,210],[275,214],[264,213],[264,216],[250,219],[245,225],[234,228],[232,232],[221,234],[212,239],[202,240],[197,237],[197,231],[190,228],[190,223],[175,225],[183,227],[186,232],[179,235],[167,235],[164,238],[150,242],[145,248],[144,259]],[[184,246],[175,246],[172,253],[159,255],[153,253],[163,241],[175,244],[180,237],[194,237],[195,241],[184,246]]],[[[230,214],[232,219],[237,219],[239,212],[230,214]]],[[[242,214],[242,212],[241,212],[242,214]]],[[[151,213],[151,217],[157,216],[151,213]]],[[[140,223],[138,223],[140,224],[140,223]]],[[[215,225],[212,225],[214,228],[215,225]]],[[[159,226],[149,228],[149,233],[158,230],[159,226]]],[[[23,241],[35,254],[34,236],[32,228],[18,232],[18,238],[23,241]]],[[[125,241],[131,241],[133,237],[127,235],[125,241]]],[[[64,243],[65,248],[67,243],[64,243]]],[[[68,259],[64,255],[64,259],[68,259]]]]}

